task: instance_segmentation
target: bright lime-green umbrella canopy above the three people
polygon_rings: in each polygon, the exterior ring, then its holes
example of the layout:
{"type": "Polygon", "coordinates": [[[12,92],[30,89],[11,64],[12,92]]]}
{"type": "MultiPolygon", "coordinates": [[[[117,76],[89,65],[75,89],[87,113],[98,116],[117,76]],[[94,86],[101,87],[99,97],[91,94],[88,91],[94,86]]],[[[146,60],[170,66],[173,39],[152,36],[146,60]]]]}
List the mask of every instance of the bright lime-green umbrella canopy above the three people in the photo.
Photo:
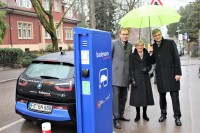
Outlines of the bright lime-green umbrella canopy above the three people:
{"type": "Polygon", "coordinates": [[[146,28],[179,22],[181,16],[173,9],[160,5],[142,6],[128,12],[119,24],[123,28],[146,28]]]}

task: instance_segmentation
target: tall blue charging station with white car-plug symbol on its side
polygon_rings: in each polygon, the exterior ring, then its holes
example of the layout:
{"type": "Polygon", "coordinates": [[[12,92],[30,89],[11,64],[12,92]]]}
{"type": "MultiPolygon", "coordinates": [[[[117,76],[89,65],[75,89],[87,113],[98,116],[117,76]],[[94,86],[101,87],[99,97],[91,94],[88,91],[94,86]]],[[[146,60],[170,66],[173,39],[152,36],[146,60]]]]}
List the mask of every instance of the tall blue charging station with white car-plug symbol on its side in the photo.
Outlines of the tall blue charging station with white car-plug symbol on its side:
{"type": "Polygon", "coordinates": [[[78,133],[113,133],[111,33],[74,28],[78,133]]]}

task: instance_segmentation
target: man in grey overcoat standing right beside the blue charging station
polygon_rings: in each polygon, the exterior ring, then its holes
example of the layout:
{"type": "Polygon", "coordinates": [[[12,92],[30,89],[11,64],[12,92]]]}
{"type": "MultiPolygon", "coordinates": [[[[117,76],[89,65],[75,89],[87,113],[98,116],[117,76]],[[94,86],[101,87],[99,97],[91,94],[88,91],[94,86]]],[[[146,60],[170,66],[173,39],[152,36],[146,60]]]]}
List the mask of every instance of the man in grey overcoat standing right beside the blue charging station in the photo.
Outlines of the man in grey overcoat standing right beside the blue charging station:
{"type": "Polygon", "coordinates": [[[119,39],[112,43],[112,88],[114,127],[121,129],[119,120],[130,121],[124,117],[129,84],[129,55],[132,44],[128,42],[128,29],[120,29],[119,39]]]}

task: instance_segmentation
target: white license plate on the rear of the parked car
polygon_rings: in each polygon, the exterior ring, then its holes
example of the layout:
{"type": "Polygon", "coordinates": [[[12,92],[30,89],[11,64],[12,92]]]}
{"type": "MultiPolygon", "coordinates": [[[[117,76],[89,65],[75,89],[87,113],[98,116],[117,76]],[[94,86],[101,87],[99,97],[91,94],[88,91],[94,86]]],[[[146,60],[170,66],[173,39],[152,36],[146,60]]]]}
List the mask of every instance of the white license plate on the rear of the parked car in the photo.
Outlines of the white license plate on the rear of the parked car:
{"type": "Polygon", "coordinates": [[[44,112],[44,113],[51,113],[52,106],[51,105],[45,105],[45,104],[39,104],[39,103],[29,103],[28,106],[29,110],[34,110],[38,112],[44,112]]]}

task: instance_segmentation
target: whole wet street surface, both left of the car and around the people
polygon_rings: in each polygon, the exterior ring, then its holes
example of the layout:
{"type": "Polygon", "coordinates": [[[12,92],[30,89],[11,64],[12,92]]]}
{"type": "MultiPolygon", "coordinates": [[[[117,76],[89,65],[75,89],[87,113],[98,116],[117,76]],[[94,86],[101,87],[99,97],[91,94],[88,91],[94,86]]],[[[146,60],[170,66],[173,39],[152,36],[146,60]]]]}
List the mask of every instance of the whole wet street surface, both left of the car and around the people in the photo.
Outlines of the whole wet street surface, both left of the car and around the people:
{"type": "MultiPolygon", "coordinates": [[[[150,121],[144,121],[141,117],[135,123],[135,107],[129,106],[127,101],[125,116],[130,118],[130,122],[122,122],[122,129],[114,129],[115,133],[199,133],[200,112],[200,78],[198,69],[200,60],[190,58],[187,55],[181,57],[182,74],[180,104],[182,111],[182,126],[177,127],[173,118],[173,110],[170,95],[167,94],[168,115],[163,123],[158,122],[160,117],[159,99],[156,84],[153,83],[154,106],[147,108],[147,115],[150,121]]],[[[0,133],[40,133],[41,123],[26,121],[15,114],[15,84],[17,76],[24,69],[12,69],[0,71],[0,133]]],[[[75,133],[76,127],[71,123],[52,124],[52,133],[75,133]]]]}

